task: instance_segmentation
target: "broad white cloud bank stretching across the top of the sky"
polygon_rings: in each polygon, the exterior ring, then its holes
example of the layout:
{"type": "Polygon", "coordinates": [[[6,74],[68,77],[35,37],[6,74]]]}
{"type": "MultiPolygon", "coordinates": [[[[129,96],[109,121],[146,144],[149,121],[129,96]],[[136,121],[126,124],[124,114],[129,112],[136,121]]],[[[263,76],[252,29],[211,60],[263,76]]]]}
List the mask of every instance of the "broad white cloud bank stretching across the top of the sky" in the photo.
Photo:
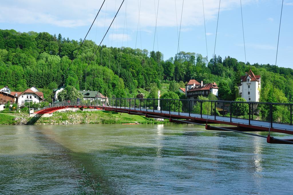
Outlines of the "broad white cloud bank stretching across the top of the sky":
{"type": "MultiPolygon", "coordinates": [[[[157,6],[157,0],[156,6],[157,6]]],[[[243,0],[243,4],[248,4],[257,0],[243,0]]],[[[62,27],[89,26],[102,0],[63,0],[63,1],[37,1],[15,0],[1,2],[0,22],[23,23],[23,24],[50,24],[62,27]]],[[[115,10],[119,8],[122,0],[106,0],[98,16],[98,26],[109,26],[115,10]],[[116,2],[116,5],[115,5],[116,2]],[[116,7],[116,8],[115,8],[116,7]],[[107,12],[106,12],[107,9],[107,12]],[[105,14],[106,13],[106,14],[105,14]],[[105,17],[106,16],[106,17],[105,17]],[[106,18],[106,19],[105,19],[106,18]]],[[[140,24],[142,29],[155,26],[155,4],[151,1],[141,1],[140,24]]],[[[206,21],[217,18],[219,1],[205,0],[206,21]]],[[[226,0],[221,2],[221,11],[239,7],[239,0],[226,0]]],[[[117,15],[117,28],[123,28],[125,22],[125,8],[127,8],[127,28],[136,29],[138,20],[138,1],[125,0],[124,5],[117,15]],[[127,7],[126,7],[127,5],[127,7]]],[[[181,1],[177,3],[177,23],[180,25],[181,1]]],[[[202,0],[185,0],[182,14],[182,29],[203,23],[202,0]],[[185,28],[184,28],[185,27],[185,28]]],[[[126,25],[126,24],[125,24],[126,25]]],[[[115,24],[116,26],[116,24],[115,24]]],[[[161,0],[159,2],[157,26],[176,26],[175,2],[161,0]]]]}

